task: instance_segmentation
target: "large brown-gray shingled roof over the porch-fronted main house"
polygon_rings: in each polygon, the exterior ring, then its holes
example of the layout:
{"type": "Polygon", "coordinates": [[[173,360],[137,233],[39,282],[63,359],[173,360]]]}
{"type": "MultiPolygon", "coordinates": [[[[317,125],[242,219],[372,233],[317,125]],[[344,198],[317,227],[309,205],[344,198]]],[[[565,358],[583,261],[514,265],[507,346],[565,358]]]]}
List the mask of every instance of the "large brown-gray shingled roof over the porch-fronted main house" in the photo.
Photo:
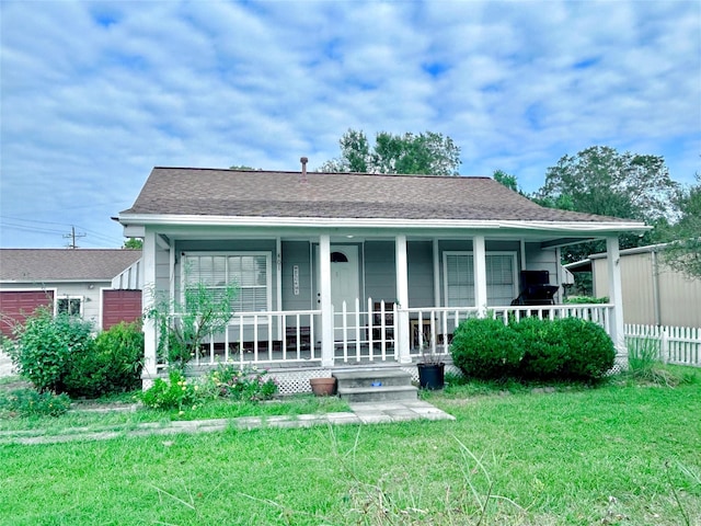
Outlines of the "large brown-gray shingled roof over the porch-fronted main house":
{"type": "Polygon", "coordinates": [[[122,215],[622,221],[543,208],[490,178],[154,168],[122,215]]]}

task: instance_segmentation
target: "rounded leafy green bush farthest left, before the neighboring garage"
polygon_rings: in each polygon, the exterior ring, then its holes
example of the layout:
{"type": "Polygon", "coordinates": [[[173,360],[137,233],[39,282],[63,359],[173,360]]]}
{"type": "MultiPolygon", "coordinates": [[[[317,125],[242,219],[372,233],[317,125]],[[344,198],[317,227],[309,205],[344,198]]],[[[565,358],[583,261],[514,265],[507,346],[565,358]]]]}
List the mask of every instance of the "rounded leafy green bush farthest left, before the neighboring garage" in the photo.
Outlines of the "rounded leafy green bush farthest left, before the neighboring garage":
{"type": "Polygon", "coordinates": [[[16,328],[10,356],[20,375],[41,392],[65,392],[74,357],[93,350],[91,331],[92,325],[80,318],[37,309],[16,328]]]}

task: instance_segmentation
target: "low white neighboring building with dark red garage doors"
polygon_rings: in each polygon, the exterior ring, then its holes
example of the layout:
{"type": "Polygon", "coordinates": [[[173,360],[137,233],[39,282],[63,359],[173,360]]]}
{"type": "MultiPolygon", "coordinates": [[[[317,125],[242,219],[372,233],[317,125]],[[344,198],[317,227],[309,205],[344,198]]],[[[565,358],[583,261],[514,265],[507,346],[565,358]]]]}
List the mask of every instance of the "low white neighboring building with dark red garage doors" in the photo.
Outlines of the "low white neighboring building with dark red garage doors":
{"type": "Polygon", "coordinates": [[[140,318],[140,258],[138,250],[0,249],[0,331],[10,335],[39,306],[97,329],[140,318]]]}

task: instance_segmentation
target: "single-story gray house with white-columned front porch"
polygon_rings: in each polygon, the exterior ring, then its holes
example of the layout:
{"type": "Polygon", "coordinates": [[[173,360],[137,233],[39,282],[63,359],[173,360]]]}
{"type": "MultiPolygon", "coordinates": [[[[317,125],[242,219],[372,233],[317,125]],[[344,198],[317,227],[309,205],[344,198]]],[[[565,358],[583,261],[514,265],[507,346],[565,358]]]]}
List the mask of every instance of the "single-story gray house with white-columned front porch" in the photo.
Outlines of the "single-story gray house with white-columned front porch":
{"type": "MultiPolygon", "coordinates": [[[[306,161],[154,168],[119,214],[125,236],[143,239],[145,306],[149,288],[176,298],[192,279],[239,287],[229,329],[194,365],[275,367],[292,391],[350,365],[415,370],[464,318],[525,312],[587,317],[622,341],[617,236],[643,224],[543,208],[489,178],[307,173],[306,161]],[[560,248],[593,239],[607,240],[610,304],[560,305],[560,248]],[[545,300],[512,306],[521,271],[549,282],[545,300]]],[[[145,332],[148,385],[166,364],[154,327],[145,332]]]]}

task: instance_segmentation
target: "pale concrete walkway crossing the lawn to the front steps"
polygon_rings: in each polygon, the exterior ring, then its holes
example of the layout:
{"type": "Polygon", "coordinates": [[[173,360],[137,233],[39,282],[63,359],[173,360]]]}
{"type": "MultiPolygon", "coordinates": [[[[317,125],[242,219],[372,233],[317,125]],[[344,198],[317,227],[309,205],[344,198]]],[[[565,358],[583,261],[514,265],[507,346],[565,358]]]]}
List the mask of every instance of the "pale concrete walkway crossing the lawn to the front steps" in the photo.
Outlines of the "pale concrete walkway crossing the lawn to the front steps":
{"type": "Polygon", "coordinates": [[[180,433],[212,433],[233,430],[255,430],[262,427],[311,427],[315,425],[344,424],[389,424],[409,420],[455,420],[455,416],[428,402],[411,400],[402,402],[358,402],[350,404],[350,411],[324,414],[299,414],[284,416],[242,416],[239,419],[216,419],[174,421],[166,424],[149,422],[134,428],[117,431],[80,431],[61,435],[41,435],[41,431],[1,432],[0,444],[59,444],[78,441],[106,441],[111,438],[174,435],[180,433]],[[32,436],[28,436],[28,435],[32,436]]]}

